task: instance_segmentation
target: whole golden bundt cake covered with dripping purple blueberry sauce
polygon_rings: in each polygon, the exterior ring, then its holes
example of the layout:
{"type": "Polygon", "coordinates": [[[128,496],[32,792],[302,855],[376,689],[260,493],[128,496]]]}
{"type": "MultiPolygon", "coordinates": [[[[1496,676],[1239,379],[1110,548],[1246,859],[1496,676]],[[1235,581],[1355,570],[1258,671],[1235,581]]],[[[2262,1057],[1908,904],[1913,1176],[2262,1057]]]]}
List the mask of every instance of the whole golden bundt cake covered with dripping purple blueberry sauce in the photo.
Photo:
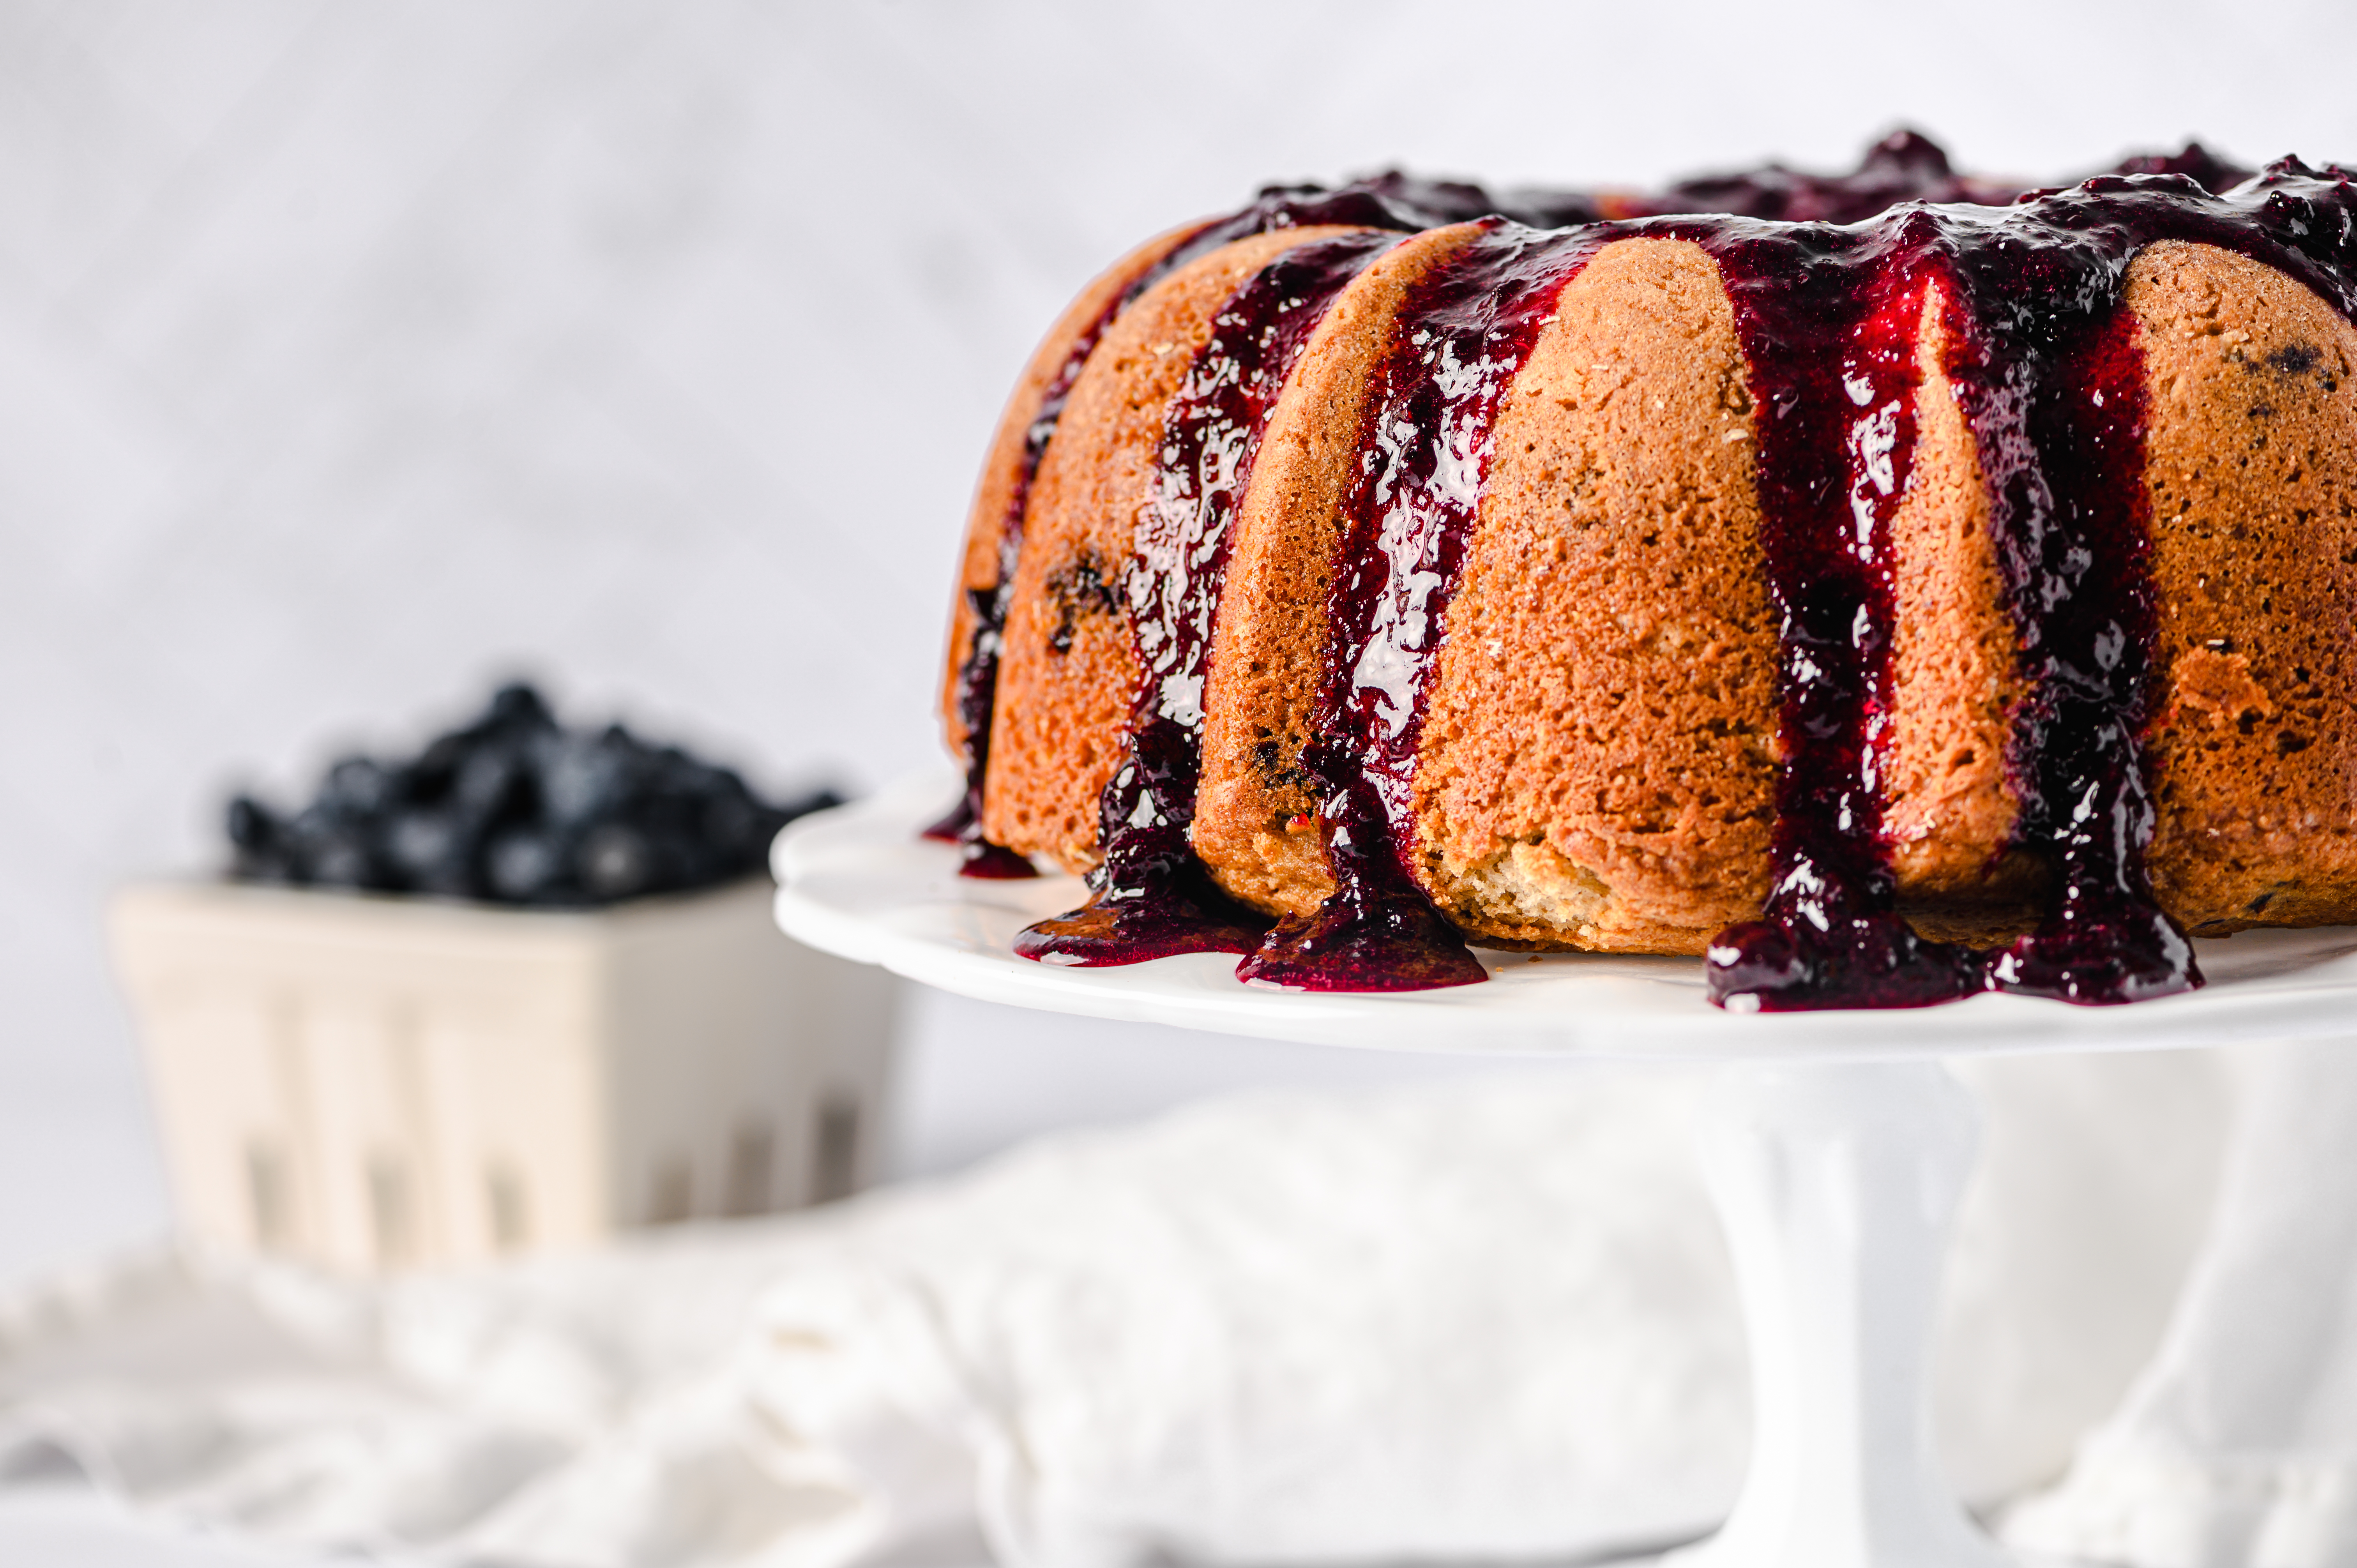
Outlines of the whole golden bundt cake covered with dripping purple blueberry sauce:
{"type": "Polygon", "coordinates": [[[2199,986],[2357,920],[2357,193],[1914,134],[1657,196],[1270,189],[1039,347],[950,630],[1047,962],[1737,1009],[2199,986]]]}

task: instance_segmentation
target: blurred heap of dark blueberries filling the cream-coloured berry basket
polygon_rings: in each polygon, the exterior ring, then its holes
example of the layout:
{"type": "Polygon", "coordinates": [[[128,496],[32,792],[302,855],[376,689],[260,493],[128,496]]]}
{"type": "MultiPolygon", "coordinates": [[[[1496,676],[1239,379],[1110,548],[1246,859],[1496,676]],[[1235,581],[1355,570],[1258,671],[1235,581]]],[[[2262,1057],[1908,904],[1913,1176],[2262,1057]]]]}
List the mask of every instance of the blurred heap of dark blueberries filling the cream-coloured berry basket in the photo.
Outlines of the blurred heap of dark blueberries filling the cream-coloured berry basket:
{"type": "Polygon", "coordinates": [[[247,882],[587,908],[750,877],[778,828],[834,804],[771,804],[676,745],[563,729],[504,686],[412,762],[339,759],[292,816],[231,799],[229,842],[247,882]]]}

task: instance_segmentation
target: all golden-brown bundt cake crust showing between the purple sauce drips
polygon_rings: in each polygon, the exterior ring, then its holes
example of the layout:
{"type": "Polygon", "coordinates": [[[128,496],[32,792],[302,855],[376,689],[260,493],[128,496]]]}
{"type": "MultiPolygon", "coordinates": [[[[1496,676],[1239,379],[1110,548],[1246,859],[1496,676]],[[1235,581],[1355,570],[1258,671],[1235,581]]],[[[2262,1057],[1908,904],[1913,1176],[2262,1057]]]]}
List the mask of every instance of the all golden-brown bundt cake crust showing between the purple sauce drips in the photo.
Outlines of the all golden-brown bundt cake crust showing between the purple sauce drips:
{"type": "MultiPolygon", "coordinates": [[[[992,446],[962,585],[992,587],[1023,436],[1075,344],[1193,231],[1138,248],[1042,344],[992,446]]],[[[1098,799],[1138,681],[1124,604],[1164,415],[1211,318],[1280,252],[1230,243],[1105,330],[1030,479],[997,684],[990,839],[1098,863],[1098,799]]],[[[1193,846],[1235,898],[1310,915],[1334,891],[1301,771],[1329,655],[1341,509],[1400,307],[1478,224],[1402,238],[1341,288],[1261,436],[1204,686],[1193,846]]],[[[2166,241],[2133,259],[2159,606],[2147,868],[2187,929],[2357,922],[2357,328],[2293,278],[2166,241]]],[[[2013,844],[2027,696],[1992,498],[1933,283],[1914,443],[1890,514],[1883,830],[1926,936],[2032,929],[2053,865],[2013,844]]],[[[1721,269],[1622,238],[1563,288],[1494,427],[1442,613],[1412,780],[1412,870],[1478,941],[1699,953],[1772,875],[1777,625],[1761,556],[1751,375],[1721,269]]],[[[952,686],[973,620],[959,594],[952,686]]],[[[955,705],[950,733],[957,740],[955,705]]]]}

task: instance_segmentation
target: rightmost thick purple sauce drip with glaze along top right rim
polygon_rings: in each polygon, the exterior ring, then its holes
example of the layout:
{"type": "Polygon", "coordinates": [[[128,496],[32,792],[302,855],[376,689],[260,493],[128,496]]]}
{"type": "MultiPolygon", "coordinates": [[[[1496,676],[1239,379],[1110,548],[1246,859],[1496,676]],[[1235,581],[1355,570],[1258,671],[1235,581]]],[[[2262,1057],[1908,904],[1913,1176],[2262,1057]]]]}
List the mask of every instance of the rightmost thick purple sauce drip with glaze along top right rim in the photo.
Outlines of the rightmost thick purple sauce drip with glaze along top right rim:
{"type": "Polygon", "coordinates": [[[2102,174],[2003,224],[1959,224],[1966,332],[1947,365],[1989,483],[1999,571],[2032,693],[2015,714],[2015,837],[2058,861],[2036,931],[1989,955],[1992,988],[2133,1002],[2199,983],[2192,948],[2152,903],[2143,851],[2154,717],[2152,519],[2143,481],[2145,375],[2121,304],[2157,241],[2253,257],[2357,321],[2357,189],[2282,158],[2213,193],[2216,160],[2102,174]]]}

